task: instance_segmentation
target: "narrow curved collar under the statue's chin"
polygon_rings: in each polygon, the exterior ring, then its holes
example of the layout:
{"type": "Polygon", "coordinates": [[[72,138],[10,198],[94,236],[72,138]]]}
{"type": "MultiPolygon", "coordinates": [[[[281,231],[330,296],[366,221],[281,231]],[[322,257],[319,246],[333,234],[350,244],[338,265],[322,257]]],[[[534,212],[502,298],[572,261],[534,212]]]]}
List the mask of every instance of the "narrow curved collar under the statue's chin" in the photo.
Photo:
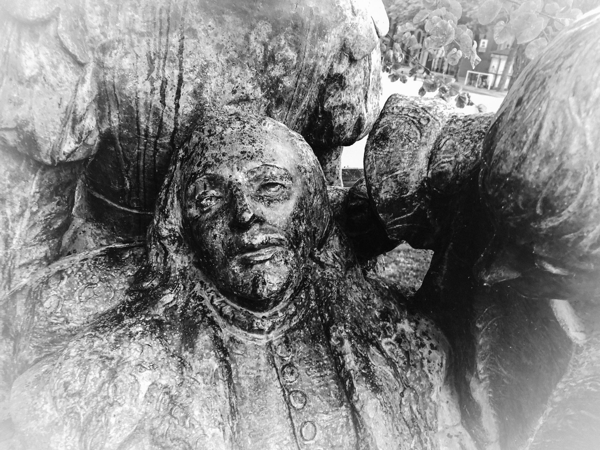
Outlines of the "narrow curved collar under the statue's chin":
{"type": "Polygon", "coordinates": [[[224,331],[257,341],[273,340],[295,326],[311,308],[316,307],[314,289],[302,281],[287,301],[272,310],[255,313],[225,296],[209,298],[209,307],[224,331]]]}

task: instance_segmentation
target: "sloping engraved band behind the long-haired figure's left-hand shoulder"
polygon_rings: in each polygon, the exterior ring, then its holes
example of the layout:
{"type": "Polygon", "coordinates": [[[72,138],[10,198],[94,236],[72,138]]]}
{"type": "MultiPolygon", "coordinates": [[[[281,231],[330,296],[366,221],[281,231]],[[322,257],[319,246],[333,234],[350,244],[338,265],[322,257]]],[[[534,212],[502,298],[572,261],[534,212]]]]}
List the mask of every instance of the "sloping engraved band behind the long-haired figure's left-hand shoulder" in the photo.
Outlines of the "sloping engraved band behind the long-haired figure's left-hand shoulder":
{"type": "Polygon", "coordinates": [[[14,380],[121,303],[143,261],[143,247],[130,244],[76,254],[38,270],[2,299],[0,443],[11,433],[8,394],[14,380]]]}

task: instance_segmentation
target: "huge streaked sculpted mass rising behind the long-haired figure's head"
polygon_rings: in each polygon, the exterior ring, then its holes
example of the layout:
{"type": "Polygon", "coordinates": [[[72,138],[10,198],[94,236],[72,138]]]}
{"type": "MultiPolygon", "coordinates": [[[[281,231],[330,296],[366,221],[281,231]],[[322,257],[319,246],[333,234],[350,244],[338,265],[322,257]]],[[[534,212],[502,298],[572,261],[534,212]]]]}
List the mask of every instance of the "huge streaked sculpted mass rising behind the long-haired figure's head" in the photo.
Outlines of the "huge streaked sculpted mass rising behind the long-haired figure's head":
{"type": "Polygon", "coordinates": [[[283,122],[341,185],[341,146],[379,113],[387,31],[380,0],[0,2],[0,292],[143,239],[207,108],[283,122]]]}

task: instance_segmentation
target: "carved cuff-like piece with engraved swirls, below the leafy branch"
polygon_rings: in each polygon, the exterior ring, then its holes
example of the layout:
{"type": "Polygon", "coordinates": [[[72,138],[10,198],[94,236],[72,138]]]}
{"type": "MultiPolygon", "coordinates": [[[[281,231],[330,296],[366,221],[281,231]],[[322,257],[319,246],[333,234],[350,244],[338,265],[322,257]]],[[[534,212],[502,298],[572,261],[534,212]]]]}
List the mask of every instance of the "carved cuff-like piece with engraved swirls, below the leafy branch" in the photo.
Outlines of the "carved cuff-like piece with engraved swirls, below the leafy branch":
{"type": "Polygon", "coordinates": [[[489,114],[460,115],[442,100],[388,99],[364,161],[367,191],[390,238],[439,248],[457,214],[448,206],[479,169],[490,122],[489,114]]]}

